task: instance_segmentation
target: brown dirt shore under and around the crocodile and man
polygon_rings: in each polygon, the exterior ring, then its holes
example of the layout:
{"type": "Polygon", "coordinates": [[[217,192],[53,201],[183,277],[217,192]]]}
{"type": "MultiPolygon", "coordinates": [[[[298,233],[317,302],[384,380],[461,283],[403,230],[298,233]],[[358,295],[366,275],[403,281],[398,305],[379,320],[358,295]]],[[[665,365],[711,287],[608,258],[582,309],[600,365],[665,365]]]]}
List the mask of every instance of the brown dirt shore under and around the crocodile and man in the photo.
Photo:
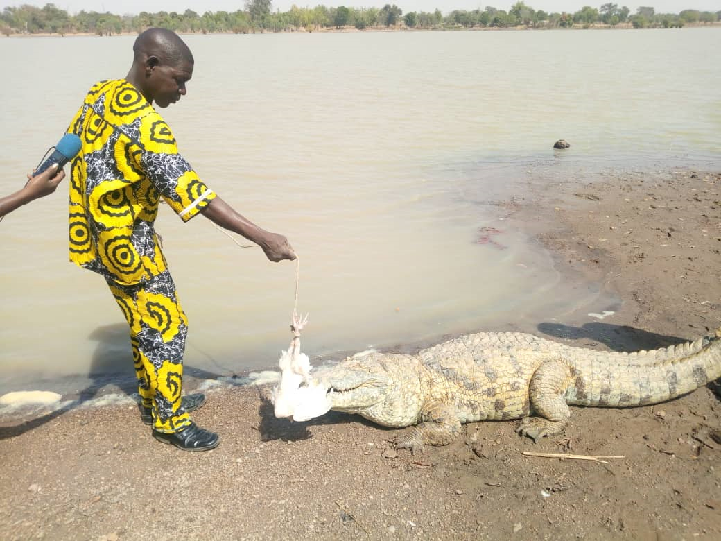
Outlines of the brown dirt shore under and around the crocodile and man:
{"type": "MultiPolygon", "coordinates": [[[[721,175],[673,170],[534,185],[510,223],[624,299],[604,320],[539,325],[584,348],[635,350],[721,325],[721,175]]],[[[492,329],[487,329],[492,330],[492,329]]],[[[329,413],[273,417],[257,387],[208,392],[212,452],[151,438],[133,405],[0,423],[3,540],[721,539],[721,392],[627,410],[572,408],[534,444],[517,421],[448,447],[394,451],[394,431],[329,413]],[[717,438],[717,439],[715,439],[717,438]],[[522,452],[613,456],[604,462],[522,452]]]]}

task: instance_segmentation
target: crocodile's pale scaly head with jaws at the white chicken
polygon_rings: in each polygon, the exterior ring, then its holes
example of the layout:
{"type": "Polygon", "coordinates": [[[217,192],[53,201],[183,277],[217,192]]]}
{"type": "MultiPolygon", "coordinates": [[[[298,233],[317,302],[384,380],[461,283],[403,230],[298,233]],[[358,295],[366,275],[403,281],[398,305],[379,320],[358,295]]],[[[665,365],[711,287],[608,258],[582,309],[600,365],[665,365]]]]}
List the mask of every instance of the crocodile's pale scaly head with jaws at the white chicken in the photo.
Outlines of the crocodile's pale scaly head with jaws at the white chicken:
{"type": "MultiPolygon", "coordinates": [[[[417,367],[402,355],[351,357],[340,364],[318,371],[310,385],[327,393],[328,409],[358,413],[384,426],[415,423],[420,408],[417,367]]],[[[293,418],[304,420],[302,404],[293,418]]]]}

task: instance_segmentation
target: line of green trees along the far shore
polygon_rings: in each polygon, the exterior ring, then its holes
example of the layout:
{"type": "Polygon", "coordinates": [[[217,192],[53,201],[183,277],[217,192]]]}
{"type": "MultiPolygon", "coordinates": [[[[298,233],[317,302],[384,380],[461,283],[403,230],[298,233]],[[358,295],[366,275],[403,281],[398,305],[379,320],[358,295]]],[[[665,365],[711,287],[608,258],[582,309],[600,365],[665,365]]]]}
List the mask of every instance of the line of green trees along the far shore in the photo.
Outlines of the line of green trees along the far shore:
{"type": "Polygon", "coordinates": [[[338,6],[293,6],[288,12],[273,12],[272,0],[247,0],[244,9],[234,12],[205,12],[202,15],[187,9],[177,12],[141,12],[112,14],[81,11],[69,15],[55,4],[43,8],[29,5],[9,6],[0,14],[0,32],[10,34],[73,34],[90,33],[113,35],[123,32],[141,32],[149,27],[165,27],[176,32],[314,32],[327,29],[355,27],[358,30],[430,29],[481,27],[592,27],[629,25],[634,28],[683,27],[692,24],[712,24],[721,19],[721,12],[699,12],[685,9],[678,14],[657,14],[653,7],[640,7],[631,14],[626,6],[603,4],[596,9],[584,6],[575,13],[547,13],[518,1],[508,12],[487,6],[473,11],[454,10],[447,16],[436,9],[433,13],[409,12],[404,14],[395,4],[382,8],[338,6]]]}

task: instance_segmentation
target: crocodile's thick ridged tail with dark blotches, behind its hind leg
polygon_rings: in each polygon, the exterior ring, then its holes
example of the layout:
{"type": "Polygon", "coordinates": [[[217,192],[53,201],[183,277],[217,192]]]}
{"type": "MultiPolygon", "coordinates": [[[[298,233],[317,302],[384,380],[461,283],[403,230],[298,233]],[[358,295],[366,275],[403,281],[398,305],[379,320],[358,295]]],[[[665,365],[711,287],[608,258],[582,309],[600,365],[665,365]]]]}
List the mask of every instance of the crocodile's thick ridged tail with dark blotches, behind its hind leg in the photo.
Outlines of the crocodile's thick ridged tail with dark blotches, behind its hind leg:
{"type": "Polygon", "coordinates": [[[698,341],[672,347],[674,354],[656,364],[616,364],[600,356],[574,363],[567,403],[609,408],[657,404],[721,377],[721,338],[708,338],[701,348],[698,341]]]}

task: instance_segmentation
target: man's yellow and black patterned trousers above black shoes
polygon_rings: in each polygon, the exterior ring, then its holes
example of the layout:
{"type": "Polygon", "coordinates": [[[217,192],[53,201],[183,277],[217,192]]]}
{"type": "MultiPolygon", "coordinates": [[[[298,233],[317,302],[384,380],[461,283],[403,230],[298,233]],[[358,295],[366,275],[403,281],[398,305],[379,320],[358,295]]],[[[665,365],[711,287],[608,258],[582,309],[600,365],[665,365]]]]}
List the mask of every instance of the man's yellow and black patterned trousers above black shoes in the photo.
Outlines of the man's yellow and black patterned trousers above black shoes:
{"type": "Polygon", "coordinates": [[[133,286],[107,281],[131,327],[133,361],[143,405],[153,428],[178,432],[190,425],[180,404],[187,318],[168,271],[133,286]]]}

